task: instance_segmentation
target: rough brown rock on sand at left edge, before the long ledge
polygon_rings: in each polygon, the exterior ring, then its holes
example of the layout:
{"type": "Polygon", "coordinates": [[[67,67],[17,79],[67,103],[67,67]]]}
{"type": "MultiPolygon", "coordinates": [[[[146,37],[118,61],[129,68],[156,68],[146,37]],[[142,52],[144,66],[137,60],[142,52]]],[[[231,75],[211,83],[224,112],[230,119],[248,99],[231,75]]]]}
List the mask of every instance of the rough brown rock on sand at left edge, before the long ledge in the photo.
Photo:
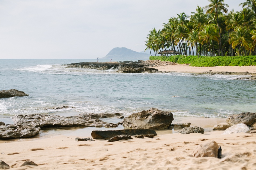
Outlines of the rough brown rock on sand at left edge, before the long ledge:
{"type": "Polygon", "coordinates": [[[0,125],[0,139],[14,139],[33,137],[38,134],[40,128],[16,125],[0,125]]]}

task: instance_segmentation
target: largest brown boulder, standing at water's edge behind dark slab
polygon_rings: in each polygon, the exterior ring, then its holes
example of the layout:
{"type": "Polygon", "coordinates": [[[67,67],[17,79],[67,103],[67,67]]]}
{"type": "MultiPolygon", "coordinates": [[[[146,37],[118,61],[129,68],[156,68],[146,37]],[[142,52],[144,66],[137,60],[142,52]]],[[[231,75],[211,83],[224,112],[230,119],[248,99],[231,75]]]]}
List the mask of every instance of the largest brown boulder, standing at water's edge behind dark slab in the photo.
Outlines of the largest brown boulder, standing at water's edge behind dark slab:
{"type": "Polygon", "coordinates": [[[124,118],[124,127],[132,129],[168,129],[173,120],[171,112],[165,112],[156,108],[143,110],[124,118]]]}

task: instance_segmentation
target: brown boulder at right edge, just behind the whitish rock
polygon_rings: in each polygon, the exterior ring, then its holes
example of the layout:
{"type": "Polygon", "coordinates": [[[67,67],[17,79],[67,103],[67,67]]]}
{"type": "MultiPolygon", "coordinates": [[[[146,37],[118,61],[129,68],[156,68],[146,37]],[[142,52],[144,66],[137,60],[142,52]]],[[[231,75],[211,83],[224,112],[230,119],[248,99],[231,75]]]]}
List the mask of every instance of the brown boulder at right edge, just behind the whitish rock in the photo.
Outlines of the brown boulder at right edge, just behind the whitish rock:
{"type": "Polygon", "coordinates": [[[229,115],[226,122],[230,125],[244,123],[250,127],[256,127],[256,113],[240,113],[238,115],[229,115]]]}

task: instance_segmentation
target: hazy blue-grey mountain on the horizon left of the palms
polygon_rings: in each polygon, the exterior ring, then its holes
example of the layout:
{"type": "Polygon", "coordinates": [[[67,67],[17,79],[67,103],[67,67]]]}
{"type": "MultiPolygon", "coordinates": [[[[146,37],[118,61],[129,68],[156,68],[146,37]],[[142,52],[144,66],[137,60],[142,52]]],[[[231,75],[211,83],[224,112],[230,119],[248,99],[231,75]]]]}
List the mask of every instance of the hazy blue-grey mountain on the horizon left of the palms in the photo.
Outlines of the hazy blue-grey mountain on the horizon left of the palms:
{"type": "Polygon", "coordinates": [[[104,59],[112,59],[113,61],[125,61],[125,60],[149,60],[149,55],[145,53],[139,53],[128,48],[113,48],[109,53],[103,57],[104,59]]]}

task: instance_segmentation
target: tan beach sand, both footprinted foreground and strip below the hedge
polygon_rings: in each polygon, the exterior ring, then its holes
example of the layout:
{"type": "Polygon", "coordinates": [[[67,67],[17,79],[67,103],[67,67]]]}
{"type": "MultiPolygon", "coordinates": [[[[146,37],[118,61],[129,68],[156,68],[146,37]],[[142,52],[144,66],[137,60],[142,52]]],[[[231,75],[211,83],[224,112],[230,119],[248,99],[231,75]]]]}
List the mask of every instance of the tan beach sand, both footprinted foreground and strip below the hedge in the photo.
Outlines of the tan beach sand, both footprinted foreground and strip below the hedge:
{"type": "MultiPolygon", "coordinates": [[[[191,67],[178,64],[155,68],[160,71],[189,73],[228,71],[256,74],[256,66],[191,67]]],[[[91,137],[92,128],[88,128],[87,133],[84,134],[65,130],[67,133],[59,135],[54,133],[55,135],[48,137],[0,140],[0,160],[10,165],[11,169],[17,170],[256,169],[256,133],[222,135],[223,131],[212,131],[214,125],[225,122],[225,119],[174,117],[173,123],[180,122],[191,122],[191,126],[204,128],[205,133],[183,135],[172,133],[172,130],[161,130],[156,131],[158,135],[154,138],[133,137],[129,140],[111,143],[99,139],[91,142],[75,141],[76,137],[91,137]],[[196,158],[192,155],[199,144],[210,140],[214,140],[221,146],[221,159],[196,158]],[[38,166],[21,166],[26,160],[31,160],[38,166]]],[[[115,128],[110,130],[115,130],[115,128]]]]}

